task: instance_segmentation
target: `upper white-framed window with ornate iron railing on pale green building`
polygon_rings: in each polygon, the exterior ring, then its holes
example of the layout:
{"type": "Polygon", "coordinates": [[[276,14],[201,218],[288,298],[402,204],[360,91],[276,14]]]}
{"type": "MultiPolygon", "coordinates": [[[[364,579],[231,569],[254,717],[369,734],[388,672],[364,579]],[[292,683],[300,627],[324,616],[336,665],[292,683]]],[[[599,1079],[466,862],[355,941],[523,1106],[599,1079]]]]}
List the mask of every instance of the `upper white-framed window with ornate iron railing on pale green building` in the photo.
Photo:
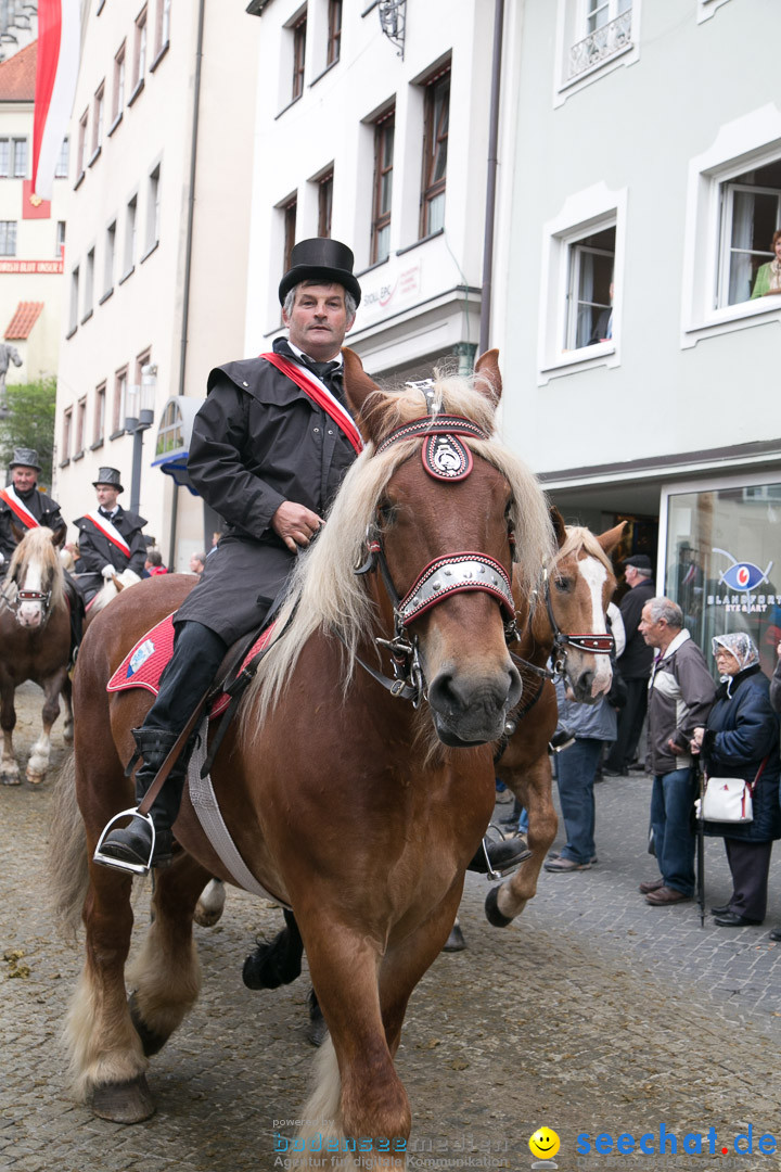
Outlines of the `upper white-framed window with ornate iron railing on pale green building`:
{"type": "Polygon", "coordinates": [[[562,90],[580,88],[630,50],[636,59],[639,7],[640,0],[559,0],[557,103],[568,96],[562,90]]]}

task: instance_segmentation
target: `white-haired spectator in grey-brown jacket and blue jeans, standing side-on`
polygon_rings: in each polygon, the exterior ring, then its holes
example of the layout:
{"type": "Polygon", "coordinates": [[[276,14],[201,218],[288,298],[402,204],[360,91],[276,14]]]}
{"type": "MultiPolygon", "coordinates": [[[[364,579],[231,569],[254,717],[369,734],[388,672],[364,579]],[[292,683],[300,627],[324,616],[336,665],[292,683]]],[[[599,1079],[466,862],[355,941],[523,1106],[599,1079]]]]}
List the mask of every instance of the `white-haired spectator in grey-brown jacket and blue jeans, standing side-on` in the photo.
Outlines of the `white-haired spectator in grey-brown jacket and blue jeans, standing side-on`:
{"type": "Polygon", "coordinates": [[[656,647],[649,686],[649,757],[653,772],[651,827],[660,879],[640,884],[648,904],[666,907],[694,894],[691,813],[697,776],[690,743],[705,725],[715,688],[705,656],[684,629],[677,602],[655,598],[643,607],[640,632],[656,647]]]}

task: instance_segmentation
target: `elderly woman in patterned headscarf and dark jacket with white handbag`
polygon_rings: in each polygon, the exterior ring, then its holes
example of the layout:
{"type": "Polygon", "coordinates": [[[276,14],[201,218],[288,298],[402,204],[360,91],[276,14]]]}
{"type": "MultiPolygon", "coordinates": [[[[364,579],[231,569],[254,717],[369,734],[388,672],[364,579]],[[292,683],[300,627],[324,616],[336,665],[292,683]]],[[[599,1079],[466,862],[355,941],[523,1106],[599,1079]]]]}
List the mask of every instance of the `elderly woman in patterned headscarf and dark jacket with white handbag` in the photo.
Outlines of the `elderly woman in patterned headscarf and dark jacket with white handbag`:
{"type": "MultiPolygon", "coordinates": [[[[724,838],[733,886],[729,901],[711,911],[715,924],[740,928],[765,919],[770,853],[781,838],[779,717],[749,636],[717,635],[712,646],[721,687],[707,727],[694,730],[691,748],[701,752],[708,778],[725,786],[742,778],[751,790],[751,820],[704,824],[706,834],[724,838]]],[[[705,802],[707,818],[707,795],[705,802]]]]}

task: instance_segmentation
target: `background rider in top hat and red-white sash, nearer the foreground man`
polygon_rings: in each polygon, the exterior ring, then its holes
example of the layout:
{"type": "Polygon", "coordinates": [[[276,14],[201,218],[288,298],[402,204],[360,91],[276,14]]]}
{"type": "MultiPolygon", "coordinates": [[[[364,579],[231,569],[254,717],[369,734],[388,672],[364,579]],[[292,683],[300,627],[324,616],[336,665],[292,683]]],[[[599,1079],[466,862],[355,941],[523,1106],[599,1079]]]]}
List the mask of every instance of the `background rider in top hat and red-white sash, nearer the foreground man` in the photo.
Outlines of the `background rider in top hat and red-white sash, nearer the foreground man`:
{"type": "Polygon", "coordinates": [[[115,574],[132,570],[141,578],[146,559],[142,532],[146,522],[118,503],[124,491],[119,470],[98,468],[93,488],[96,507],[74,522],[78,530],[78,588],[85,602],[115,574]]]}

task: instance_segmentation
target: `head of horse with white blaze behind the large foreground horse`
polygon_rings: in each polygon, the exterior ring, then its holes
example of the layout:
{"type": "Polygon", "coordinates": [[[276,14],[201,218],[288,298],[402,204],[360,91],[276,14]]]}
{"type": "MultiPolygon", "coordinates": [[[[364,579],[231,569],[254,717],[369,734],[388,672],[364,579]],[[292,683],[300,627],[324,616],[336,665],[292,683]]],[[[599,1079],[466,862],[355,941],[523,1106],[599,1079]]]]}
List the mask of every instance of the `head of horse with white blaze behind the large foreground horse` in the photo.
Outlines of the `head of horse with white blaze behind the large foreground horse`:
{"type": "Polygon", "coordinates": [[[608,554],[618,545],[624,522],[596,537],[571,525],[559,530],[560,548],[548,573],[549,613],[563,650],[563,663],[575,700],[594,704],[610,690],[605,614],[616,588],[608,554]]]}

